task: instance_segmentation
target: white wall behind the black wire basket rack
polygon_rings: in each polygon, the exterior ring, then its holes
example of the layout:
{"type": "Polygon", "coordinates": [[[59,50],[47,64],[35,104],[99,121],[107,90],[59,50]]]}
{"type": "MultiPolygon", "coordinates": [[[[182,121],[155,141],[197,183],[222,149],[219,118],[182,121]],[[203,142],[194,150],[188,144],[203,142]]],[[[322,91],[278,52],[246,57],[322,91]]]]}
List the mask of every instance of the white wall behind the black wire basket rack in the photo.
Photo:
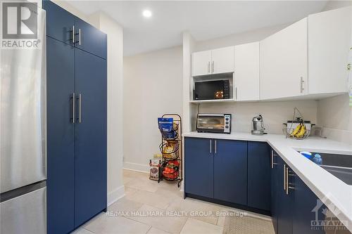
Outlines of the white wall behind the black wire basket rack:
{"type": "Polygon", "coordinates": [[[182,115],[182,46],[124,58],[124,167],[149,171],[160,153],[157,118],[182,115]]]}

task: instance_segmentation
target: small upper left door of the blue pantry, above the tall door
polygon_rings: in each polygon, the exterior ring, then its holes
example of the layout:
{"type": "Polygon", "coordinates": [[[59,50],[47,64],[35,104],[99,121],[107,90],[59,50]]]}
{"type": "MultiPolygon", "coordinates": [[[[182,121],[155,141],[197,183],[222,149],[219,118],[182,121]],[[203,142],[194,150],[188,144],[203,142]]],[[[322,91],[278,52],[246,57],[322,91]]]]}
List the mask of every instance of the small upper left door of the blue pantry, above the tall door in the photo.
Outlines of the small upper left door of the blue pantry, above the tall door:
{"type": "Polygon", "coordinates": [[[43,1],[43,8],[46,11],[46,35],[73,45],[75,16],[49,0],[43,1]]]}

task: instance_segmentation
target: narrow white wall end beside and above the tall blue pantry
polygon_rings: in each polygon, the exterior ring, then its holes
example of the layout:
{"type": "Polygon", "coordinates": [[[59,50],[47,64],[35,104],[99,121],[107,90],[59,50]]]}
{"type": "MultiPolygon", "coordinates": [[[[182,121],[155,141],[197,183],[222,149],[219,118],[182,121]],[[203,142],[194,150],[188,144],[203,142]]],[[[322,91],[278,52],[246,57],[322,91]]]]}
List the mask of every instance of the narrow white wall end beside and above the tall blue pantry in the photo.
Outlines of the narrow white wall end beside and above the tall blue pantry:
{"type": "Polygon", "coordinates": [[[69,1],[54,1],[66,11],[73,13],[105,32],[108,37],[108,204],[125,193],[122,182],[122,81],[123,47],[122,27],[103,13],[85,15],[70,5],[69,1]]]}

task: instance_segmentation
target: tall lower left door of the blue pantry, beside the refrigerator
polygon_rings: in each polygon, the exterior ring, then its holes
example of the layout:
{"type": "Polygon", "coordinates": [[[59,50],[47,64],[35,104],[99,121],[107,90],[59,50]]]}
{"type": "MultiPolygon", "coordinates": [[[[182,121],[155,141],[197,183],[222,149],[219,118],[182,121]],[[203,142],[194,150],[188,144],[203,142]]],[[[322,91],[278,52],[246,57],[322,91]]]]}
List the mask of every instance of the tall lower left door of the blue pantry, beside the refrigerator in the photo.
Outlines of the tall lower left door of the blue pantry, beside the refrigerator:
{"type": "Polygon", "coordinates": [[[69,233],[74,228],[75,54],[73,46],[46,38],[47,230],[69,233]]]}

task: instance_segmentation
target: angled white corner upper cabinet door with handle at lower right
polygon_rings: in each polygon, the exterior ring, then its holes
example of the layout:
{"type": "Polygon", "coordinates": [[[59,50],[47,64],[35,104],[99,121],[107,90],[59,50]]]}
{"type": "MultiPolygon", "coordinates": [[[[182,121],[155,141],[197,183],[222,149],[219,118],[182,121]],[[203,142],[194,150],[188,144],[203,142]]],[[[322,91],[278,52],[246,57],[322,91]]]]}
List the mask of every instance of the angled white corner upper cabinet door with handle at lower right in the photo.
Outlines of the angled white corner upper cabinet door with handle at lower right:
{"type": "Polygon", "coordinates": [[[307,18],[304,18],[260,41],[260,99],[306,93],[307,37],[307,18]]]}

